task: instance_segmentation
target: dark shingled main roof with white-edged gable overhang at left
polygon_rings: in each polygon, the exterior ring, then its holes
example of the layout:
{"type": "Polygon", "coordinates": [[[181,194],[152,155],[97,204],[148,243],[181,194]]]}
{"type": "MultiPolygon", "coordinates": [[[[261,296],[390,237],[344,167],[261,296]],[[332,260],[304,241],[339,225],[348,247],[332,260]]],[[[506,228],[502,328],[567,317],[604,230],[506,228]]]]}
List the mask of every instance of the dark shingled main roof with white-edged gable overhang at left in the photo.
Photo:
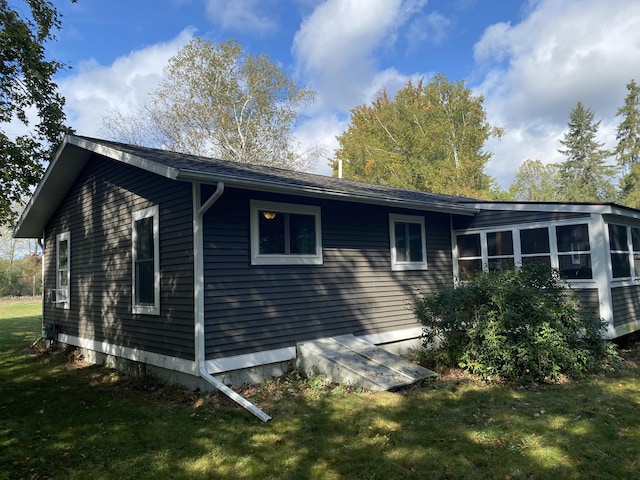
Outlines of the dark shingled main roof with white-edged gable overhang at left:
{"type": "Polygon", "coordinates": [[[262,165],[170,152],[77,135],[65,137],[22,214],[14,236],[36,238],[86,165],[98,154],[177,181],[216,183],[258,191],[395,205],[473,215],[468,198],[354,182],[262,165]]]}

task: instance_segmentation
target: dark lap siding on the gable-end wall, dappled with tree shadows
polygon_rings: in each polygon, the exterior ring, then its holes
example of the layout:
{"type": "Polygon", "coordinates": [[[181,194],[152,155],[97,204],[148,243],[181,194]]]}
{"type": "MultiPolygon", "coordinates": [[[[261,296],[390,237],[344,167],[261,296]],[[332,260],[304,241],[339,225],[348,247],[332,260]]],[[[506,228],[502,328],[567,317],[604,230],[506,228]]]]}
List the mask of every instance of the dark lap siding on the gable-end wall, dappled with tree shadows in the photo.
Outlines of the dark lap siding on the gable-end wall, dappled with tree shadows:
{"type": "Polygon", "coordinates": [[[193,359],[191,186],[93,157],[46,229],[45,291],[55,288],[56,234],[71,232],[70,308],[45,303],[58,331],[193,359]],[[131,313],[131,214],[160,207],[160,315],[131,313]]]}

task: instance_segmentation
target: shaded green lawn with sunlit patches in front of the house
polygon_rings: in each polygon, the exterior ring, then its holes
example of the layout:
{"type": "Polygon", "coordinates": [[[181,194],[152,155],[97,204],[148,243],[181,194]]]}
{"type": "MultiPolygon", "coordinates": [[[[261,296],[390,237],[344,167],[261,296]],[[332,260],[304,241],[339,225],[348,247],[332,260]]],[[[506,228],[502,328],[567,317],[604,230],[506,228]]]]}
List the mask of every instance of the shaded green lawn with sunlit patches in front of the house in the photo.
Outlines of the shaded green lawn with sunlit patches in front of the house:
{"type": "Polygon", "coordinates": [[[0,303],[0,479],[640,477],[637,349],[616,374],[530,389],[291,375],[243,389],[264,424],[216,394],[30,352],[39,310],[0,303]]]}

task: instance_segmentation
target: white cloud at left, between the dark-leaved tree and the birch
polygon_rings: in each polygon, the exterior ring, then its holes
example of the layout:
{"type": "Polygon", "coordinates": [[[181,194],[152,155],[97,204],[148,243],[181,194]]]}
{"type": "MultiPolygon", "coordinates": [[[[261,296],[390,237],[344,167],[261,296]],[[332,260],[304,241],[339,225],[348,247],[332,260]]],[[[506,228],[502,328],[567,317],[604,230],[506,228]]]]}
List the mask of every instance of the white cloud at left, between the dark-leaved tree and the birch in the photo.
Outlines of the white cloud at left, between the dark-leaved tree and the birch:
{"type": "Polygon", "coordinates": [[[83,62],[58,80],[66,98],[67,120],[79,135],[101,136],[105,115],[117,108],[132,113],[158,85],[169,58],[193,38],[194,30],[183,30],[174,39],[119,57],[104,66],[95,60],[83,62]]]}

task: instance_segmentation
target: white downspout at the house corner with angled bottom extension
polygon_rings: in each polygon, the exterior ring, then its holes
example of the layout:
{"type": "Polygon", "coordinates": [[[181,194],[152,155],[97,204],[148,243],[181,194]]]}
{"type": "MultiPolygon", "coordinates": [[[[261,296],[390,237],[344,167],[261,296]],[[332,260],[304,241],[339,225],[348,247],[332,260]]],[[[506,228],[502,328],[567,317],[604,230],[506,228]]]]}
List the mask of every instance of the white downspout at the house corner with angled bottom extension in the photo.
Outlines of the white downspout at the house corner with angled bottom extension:
{"type": "Polygon", "coordinates": [[[271,417],[249,402],[246,398],[234,392],[223,382],[215,378],[205,367],[204,345],[204,233],[203,217],[211,206],[222,196],[224,183],[218,182],[211,197],[202,204],[200,184],[194,182],[193,190],[193,262],[194,262],[194,313],[195,313],[195,355],[198,374],[202,379],[213,385],[231,400],[245,408],[263,422],[271,417]]]}

